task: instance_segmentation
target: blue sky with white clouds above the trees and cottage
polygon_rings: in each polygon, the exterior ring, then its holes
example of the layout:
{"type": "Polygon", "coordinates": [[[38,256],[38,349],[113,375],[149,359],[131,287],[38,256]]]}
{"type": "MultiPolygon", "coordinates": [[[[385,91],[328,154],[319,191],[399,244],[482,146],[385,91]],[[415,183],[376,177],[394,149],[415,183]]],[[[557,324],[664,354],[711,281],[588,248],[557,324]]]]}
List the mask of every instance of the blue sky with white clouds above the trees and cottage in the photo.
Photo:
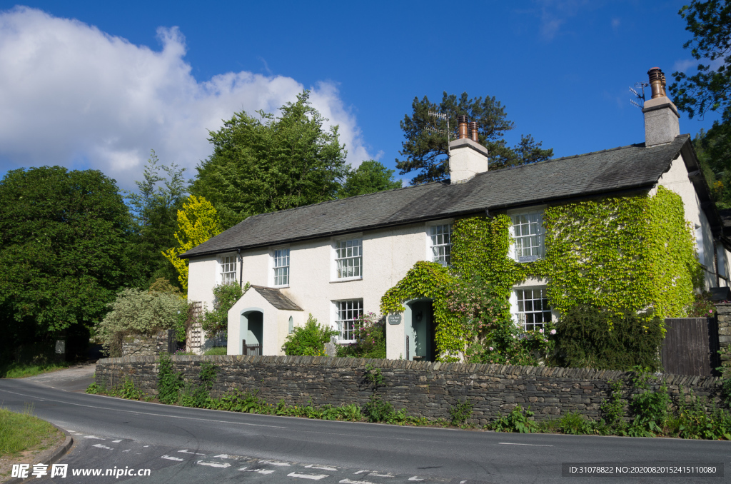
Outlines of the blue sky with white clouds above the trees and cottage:
{"type": "MultiPolygon", "coordinates": [[[[569,156],[640,143],[628,86],[697,64],[683,3],[0,0],[0,174],[94,167],[129,189],[155,149],[192,175],[206,129],[301,88],[355,165],[393,168],[414,97],[442,91],[496,97],[510,145],[531,134],[569,156]]],[[[716,118],[683,116],[681,132],[716,118]]]]}

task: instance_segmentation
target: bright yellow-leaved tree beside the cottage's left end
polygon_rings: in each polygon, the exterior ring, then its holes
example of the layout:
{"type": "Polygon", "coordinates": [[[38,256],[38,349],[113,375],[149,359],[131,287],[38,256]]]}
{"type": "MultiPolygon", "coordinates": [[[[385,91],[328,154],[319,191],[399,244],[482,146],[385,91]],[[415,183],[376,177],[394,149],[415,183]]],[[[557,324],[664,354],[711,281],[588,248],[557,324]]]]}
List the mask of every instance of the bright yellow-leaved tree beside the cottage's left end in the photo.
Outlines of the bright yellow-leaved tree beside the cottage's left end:
{"type": "Polygon", "coordinates": [[[216,208],[203,197],[191,195],[188,201],[183,203],[183,210],[178,210],[178,230],[175,232],[178,246],[167,249],[162,255],[178,271],[178,281],[181,282],[183,291],[188,291],[188,260],[178,256],[219,235],[221,231],[221,221],[216,208]]]}

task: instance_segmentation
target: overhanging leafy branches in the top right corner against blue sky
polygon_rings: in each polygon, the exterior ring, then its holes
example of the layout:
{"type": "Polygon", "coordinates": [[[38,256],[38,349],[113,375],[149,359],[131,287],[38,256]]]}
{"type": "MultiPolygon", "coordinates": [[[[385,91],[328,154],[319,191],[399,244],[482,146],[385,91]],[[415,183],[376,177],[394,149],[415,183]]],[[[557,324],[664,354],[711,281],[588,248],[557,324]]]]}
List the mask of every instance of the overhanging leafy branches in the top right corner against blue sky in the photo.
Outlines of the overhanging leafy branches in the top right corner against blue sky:
{"type": "Polygon", "coordinates": [[[678,12],[686,20],[686,30],[693,38],[683,45],[691,48],[698,61],[721,60],[698,64],[695,75],[673,72],[675,83],[669,86],[678,109],[689,118],[709,110],[722,114],[724,123],[731,122],[731,3],[726,0],[693,0],[678,12]]]}

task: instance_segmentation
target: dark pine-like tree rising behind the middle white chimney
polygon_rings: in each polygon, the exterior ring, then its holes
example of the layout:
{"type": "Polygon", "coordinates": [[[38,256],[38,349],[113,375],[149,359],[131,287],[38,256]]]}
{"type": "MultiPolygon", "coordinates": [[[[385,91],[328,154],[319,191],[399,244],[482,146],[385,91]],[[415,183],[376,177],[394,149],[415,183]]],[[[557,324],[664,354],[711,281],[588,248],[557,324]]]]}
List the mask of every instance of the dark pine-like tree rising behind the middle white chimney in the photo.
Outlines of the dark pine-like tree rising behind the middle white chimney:
{"type": "Polygon", "coordinates": [[[450,139],[457,137],[457,116],[469,116],[470,121],[477,121],[479,143],[485,145],[490,152],[490,167],[502,168],[522,165],[550,159],[553,148],[543,149],[531,135],[521,136],[520,143],[510,148],[502,139],[504,133],[513,129],[512,121],[507,120],[505,108],[495,97],[469,98],[466,92],[458,98],[454,94],[442,95],[439,105],[429,101],[428,97],[414,98],[412,116],[408,114],[401,121],[401,129],[406,140],[401,144],[399,152],[406,159],[396,159],[396,167],[401,175],[417,172],[412,178],[412,185],[428,181],[438,181],[449,177],[447,168],[447,137],[427,128],[447,129],[447,121],[429,116],[429,111],[446,114],[449,117],[450,139]]]}

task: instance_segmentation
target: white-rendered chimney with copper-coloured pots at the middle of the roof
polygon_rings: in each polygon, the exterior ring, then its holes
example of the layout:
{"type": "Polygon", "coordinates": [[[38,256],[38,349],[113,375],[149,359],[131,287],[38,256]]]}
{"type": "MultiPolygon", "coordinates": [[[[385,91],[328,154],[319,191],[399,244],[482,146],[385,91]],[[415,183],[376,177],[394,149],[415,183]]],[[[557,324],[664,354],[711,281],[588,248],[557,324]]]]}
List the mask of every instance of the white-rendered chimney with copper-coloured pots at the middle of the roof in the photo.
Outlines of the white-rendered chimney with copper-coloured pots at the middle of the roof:
{"type": "Polygon", "coordinates": [[[458,116],[459,137],[450,142],[450,183],[463,184],[488,171],[488,148],[477,143],[477,123],[458,116]],[[471,131],[471,137],[468,132],[471,131]]]}

